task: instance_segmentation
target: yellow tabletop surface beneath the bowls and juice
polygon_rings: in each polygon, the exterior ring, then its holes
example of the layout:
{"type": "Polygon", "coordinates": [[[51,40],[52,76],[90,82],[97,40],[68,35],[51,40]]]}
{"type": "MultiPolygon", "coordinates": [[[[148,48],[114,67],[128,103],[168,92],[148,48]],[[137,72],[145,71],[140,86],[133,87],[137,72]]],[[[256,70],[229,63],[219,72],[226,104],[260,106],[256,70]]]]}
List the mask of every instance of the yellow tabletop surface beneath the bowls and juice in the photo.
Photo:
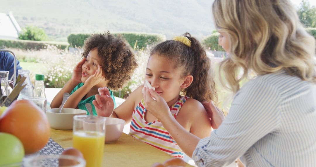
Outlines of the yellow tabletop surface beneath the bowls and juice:
{"type": "MultiPolygon", "coordinates": [[[[50,137],[64,148],[72,147],[72,130],[51,129],[50,137]]],[[[163,163],[170,158],[171,155],[122,133],[118,140],[104,145],[103,166],[150,167],[156,162],[163,163]]]]}

